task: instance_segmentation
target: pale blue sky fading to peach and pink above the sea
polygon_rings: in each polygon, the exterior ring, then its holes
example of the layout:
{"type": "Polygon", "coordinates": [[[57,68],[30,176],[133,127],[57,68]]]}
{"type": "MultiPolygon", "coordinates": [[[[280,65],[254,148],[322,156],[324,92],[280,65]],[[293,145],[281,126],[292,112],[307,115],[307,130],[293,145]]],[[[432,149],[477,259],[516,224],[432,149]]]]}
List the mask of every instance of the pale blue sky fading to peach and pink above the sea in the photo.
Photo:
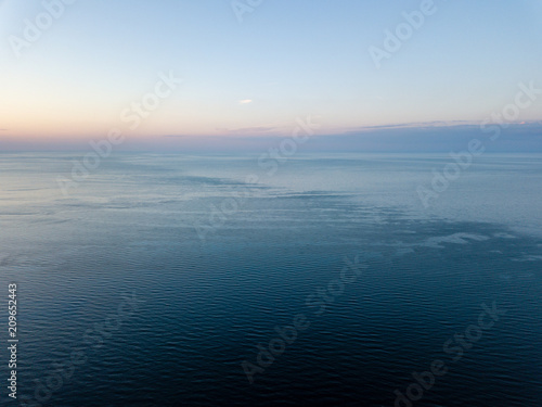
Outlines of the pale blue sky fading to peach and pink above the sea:
{"type": "MultiPolygon", "coordinates": [[[[243,149],[307,117],[330,149],[446,149],[542,89],[541,23],[542,0],[0,0],[0,150],[243,149]]],[[[540,148],[542,94],[518,111],[501,150],[540,148]]]]}

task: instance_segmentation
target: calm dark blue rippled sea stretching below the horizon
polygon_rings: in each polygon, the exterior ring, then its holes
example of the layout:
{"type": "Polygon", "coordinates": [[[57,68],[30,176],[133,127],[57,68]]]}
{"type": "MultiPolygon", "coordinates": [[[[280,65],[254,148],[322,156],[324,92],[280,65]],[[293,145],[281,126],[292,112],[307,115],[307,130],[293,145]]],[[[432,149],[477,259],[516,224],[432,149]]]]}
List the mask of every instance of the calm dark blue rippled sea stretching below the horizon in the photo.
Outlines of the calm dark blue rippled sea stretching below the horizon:
{"type": "Polygon", "coordinates": [[[268,176],[253,157],[119,155],[64,195],[77,157],[0,158],[18,402],[542,402],[540,157],[485,157],[429,208],[415,189],[446,157],[302,156],[268,176]]]}

